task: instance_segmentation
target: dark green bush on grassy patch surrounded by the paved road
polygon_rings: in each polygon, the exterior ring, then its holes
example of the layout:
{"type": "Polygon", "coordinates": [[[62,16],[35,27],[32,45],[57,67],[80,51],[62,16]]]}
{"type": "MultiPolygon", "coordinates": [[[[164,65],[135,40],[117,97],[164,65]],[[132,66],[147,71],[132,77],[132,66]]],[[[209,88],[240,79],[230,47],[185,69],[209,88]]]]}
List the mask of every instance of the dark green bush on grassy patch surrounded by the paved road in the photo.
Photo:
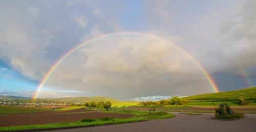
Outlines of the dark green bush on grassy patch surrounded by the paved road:
{"type": "Polygon", "coordinates": [[[216,119],[236,119],[244,117],[244,115],[241,113],[234,113],[227,103],[220,104],[220,106],[216,108],[215,111],[216,119]]]}

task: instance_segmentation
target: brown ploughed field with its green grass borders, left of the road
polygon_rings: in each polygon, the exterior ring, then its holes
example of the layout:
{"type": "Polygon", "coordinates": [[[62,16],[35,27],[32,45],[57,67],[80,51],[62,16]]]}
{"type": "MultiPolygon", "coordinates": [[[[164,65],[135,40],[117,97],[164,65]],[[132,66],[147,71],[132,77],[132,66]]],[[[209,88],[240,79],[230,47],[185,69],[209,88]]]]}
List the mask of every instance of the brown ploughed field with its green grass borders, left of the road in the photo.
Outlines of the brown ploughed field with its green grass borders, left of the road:
{"type": "Polygon", "coordinates": [[[91,109],[86,109],[84,107],[81,108],[73,106],[54,109],[54,111],[0,115],[0,131],[92,126],[147,121],[171,117],[174,117],[174,115],[162,112],[153,112],[151,115],[148,115],[147,112],[139,111],[112,110],[107,112],[103,109],[97,109],[97,111],[92,111],[91,109]],[[103,117],[112,117],[114,119],[106,121],[99,120],[103,117]],[[81,120],[84,118],[96,119],[96,121],[81,122],[81,120]]]}

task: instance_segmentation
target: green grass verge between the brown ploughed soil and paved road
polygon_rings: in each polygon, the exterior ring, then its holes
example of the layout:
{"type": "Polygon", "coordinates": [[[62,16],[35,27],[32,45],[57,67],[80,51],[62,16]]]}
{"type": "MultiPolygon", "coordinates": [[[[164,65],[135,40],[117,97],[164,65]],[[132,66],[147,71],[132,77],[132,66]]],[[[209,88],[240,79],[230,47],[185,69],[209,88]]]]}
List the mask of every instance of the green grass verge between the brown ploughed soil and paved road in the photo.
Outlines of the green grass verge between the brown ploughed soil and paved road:
{"type": "Polygon", "coordinates": [[[0,131],[14,131],[14,130],[42,130],[42,129],[54,129],[54,128],[64,128],[64,127],[82,127],[82,126],[98,126],[98,125],[108,125],[108,124],[121,124],[121,123],[131,123],[131,122],[140,122],[148,121],[154,119],[164,119],[175,117],[173,114],[164,113],[164,112],[153,112],[148,114],[147,112],[140,111],[109,111],[108,113],[126,113],[126,114],[135,114],[135,117],[131,118],[116,118],[110,120],[95,120],[92,122],[66,122],[66,123],[50,123],[50,124],[39,124],[39,125],[24,125],[24,126],[6,126],[0,127],[0,131]]]}

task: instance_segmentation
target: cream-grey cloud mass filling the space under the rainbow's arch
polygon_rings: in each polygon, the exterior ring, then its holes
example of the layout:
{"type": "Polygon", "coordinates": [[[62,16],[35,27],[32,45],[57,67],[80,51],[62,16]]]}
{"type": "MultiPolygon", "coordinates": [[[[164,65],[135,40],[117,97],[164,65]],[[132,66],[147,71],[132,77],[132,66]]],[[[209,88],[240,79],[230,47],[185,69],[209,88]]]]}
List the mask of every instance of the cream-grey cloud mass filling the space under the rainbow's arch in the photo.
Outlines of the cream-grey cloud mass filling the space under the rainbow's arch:
{"type": "Polygon", "coordinates": [[[46,86],[118,99],[211,92],[196,65],[170,43],[138,36],[90,43],[65,59],[46,86]]]}

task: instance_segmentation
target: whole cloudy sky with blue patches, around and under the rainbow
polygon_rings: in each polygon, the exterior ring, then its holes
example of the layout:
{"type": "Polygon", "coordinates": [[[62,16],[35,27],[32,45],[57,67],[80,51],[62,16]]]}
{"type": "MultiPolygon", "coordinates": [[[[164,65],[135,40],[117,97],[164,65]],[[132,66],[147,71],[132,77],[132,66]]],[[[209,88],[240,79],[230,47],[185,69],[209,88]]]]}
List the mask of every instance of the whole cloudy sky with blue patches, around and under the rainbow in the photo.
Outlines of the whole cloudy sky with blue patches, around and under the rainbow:
{"type": "Polygon", "coordinates": [[[256,86],[256,1],[1,1],[0,95],[188,96],[256,86]],[[154,34],[161,38],[149,37],[154,34]],[[175,48],[179,47],[181,50],[175,48]]]}

